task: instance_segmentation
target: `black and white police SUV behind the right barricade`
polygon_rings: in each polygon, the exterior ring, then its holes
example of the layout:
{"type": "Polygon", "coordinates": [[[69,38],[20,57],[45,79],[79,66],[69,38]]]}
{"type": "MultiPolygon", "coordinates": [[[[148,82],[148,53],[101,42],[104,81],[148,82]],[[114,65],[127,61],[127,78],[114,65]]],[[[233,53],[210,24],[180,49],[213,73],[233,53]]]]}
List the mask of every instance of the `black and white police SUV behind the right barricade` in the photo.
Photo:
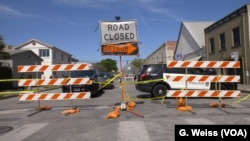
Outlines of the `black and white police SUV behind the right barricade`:
{"type": "MultiPolygon", "coordinates": [[[[164,81],[163,74],[171,75],[216,75],[214,69],[203,68],[167,68],[166,64],[148,64],[143,65],[138,76],[137,81],[149,81],[149,83],[137,83],[136,89],[141,92],[147,92],[152,97],[159,97],[166,95],[166,90],[171,89],[183,89],[187,86],[187,89],[207,89],[215,90],[219,83],[215,82],[177,82],[177,81],[164,81]],[[187,70],[187,72],[186,72],[187,70]],[[154,81],[152,81],[154,80],[154,81]]],[[[237,90],[237,83],[220,83],[221,90],[237,90]]]]}

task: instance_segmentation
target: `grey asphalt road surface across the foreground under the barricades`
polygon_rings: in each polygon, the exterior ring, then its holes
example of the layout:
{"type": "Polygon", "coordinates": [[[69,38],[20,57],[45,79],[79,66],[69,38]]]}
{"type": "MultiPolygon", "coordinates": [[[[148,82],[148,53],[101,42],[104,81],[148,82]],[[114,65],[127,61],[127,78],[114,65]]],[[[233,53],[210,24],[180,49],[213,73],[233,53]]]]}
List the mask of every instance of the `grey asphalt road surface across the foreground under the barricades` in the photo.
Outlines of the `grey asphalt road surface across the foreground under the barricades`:
{"type": "Polygon", "coordinates": [[[178,111],[174,98],[152,100],[134,85],[126,85],[123,92],[116,85],[97,98],[40,101],[52,107],[40,112],[35,110],[38,101],[23,102],[14,97],[0,100],[0,141],[174,141],[175,125],[179,124],[249,125],[250,102],[242,99],[246,96],[242,93],[240,98],[222,99],[225,108],[209,107],[219,99],[190,98],[186,103],[192,111],[178,111]],[[119,118],[106,119],[112,106],[121,105],[122,93],[137,103],[133,113],[121,111],[119,118]],[[72,106],[80,112],[62,115],[72,106]]]}

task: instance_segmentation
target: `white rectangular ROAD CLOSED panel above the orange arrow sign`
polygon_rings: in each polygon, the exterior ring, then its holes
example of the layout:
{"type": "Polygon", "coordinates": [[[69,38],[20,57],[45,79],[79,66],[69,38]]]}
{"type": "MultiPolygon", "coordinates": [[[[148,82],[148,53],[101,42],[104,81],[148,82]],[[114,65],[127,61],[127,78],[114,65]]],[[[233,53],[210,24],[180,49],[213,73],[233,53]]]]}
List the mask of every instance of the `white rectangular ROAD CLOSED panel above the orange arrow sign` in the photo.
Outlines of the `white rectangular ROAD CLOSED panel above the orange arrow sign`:
{"type": "Polygon", "coordinates": [[[135,21],[100,22],[101,44],[138,42],[135,21]]]}

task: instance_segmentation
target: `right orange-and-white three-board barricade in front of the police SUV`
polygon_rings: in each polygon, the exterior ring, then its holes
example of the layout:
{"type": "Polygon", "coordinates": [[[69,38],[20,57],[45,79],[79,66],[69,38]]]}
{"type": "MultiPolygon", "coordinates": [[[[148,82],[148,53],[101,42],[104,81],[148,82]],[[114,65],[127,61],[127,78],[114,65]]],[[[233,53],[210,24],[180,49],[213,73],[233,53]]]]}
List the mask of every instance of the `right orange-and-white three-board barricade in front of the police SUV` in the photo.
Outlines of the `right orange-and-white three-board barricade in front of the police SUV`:
{"type": "MultiPolygon", "coordinates": [[[[168,68],[240,68],[239,61],[168,61],[168,68]]],[[[186,71],[187,72],[187,71],[186,71]]],[[[240,82],[239,75],[164,74],[164,81],[185,82],[183,90],[167,90],[166,97],[239,97],[236,90],[187,90],[187,82],[240,82]]],[[[221,99],[220,99],[221,100],[221,99]]],[[[220,102],[221,103],[221,102],[220,102]]]]}

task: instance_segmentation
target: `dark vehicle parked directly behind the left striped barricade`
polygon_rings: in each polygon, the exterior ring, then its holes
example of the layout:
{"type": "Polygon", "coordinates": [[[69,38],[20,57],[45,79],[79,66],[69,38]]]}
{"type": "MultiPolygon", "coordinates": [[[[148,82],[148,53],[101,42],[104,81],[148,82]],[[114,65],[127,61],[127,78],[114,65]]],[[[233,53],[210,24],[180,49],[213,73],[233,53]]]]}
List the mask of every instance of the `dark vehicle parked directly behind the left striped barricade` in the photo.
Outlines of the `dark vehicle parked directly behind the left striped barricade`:
{"type": "Polygon", "coordinates": [[[92,80],[92,84],[63,85],[62,92],[90,92],[91,97],[96,97],[103,91],[101,88],[103,78],[99,77],[99,71],[97,69],[71,71],[69,77],[89,78],[92,80]]]}

